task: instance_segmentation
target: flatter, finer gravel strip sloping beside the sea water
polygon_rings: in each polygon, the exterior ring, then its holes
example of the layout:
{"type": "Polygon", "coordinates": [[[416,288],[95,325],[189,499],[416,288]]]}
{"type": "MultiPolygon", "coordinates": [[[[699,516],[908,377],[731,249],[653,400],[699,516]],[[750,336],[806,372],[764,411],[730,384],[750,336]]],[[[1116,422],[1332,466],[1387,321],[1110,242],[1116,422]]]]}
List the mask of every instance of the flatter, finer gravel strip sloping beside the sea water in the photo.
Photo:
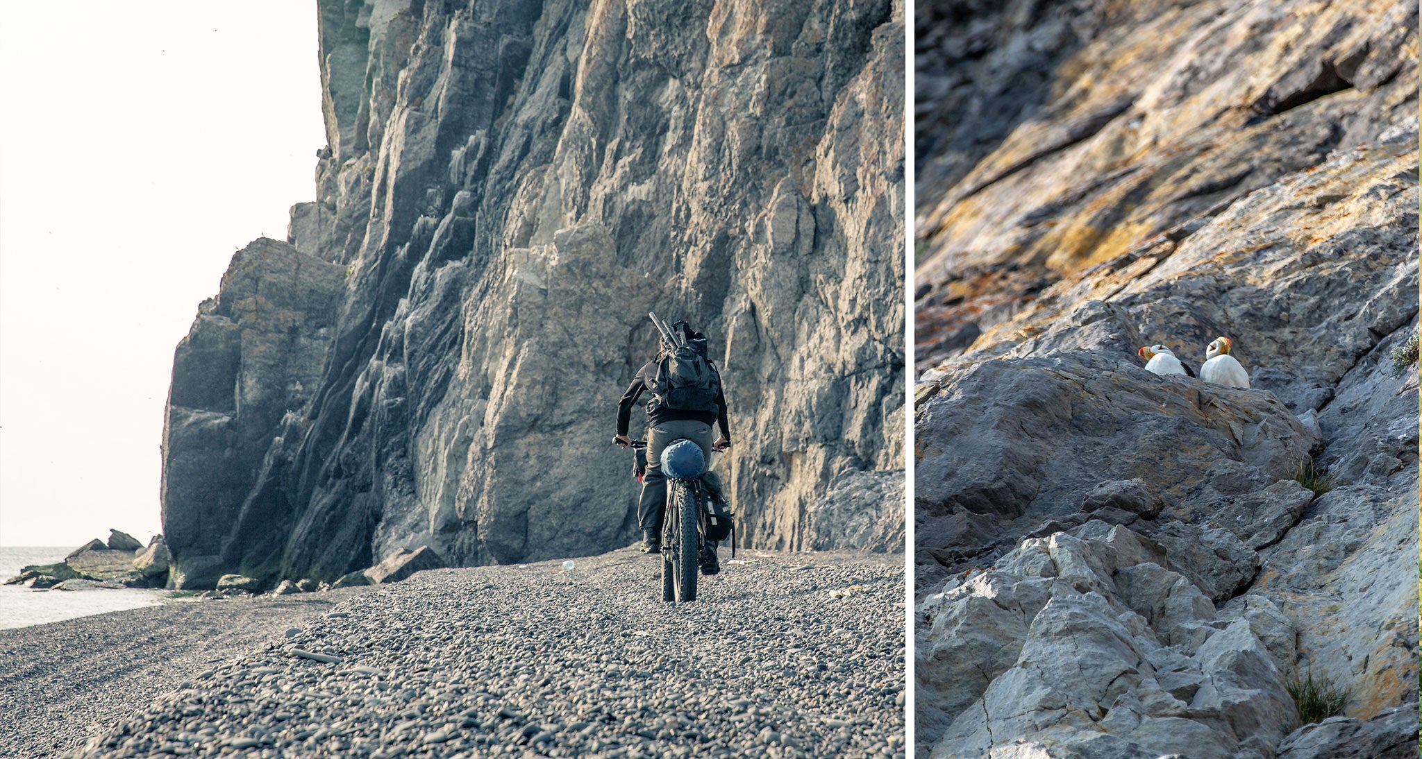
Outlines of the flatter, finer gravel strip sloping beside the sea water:
{"type": "Polygon", "coordinates": [[[91,725],[112,725],[273,630],[370,591],[181,601],[0,630],[0,756],[73,750],[91,725]]]}

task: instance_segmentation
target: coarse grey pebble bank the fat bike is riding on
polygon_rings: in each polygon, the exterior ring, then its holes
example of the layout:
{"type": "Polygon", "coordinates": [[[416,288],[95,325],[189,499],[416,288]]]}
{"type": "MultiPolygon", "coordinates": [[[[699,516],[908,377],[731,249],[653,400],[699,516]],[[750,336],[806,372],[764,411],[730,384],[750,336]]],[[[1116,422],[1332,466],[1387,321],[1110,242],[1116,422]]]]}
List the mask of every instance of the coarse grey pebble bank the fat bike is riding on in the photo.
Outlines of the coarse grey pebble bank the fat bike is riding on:
{"type": "Polygon", "coordinates": [[[739,559],[683,605],[633,549],[419,573],[189,664],[77,755],[903,756],[903,556],[739,559]]]}

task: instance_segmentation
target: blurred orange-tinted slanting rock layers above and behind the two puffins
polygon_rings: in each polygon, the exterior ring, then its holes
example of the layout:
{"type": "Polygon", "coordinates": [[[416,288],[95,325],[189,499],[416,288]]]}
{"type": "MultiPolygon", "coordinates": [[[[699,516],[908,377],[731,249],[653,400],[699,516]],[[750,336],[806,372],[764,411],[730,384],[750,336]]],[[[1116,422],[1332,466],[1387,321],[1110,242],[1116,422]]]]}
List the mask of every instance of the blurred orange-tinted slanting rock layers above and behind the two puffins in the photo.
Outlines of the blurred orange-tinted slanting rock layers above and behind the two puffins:
{"type": "Polygon", "coordinates": [[[920,371],[1418,111],[1408,3],[946,0],[916,23],[920,371]]]}

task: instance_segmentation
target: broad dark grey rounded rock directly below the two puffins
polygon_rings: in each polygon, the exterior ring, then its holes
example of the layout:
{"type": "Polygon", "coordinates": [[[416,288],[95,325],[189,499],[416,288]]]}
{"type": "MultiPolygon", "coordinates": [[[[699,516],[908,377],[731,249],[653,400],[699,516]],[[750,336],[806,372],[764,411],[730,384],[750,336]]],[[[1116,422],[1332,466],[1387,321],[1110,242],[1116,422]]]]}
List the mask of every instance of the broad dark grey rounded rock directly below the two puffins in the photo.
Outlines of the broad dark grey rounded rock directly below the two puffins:
{"type": "MultiPolygon", "coordinates": [[[[939,381],[951,392],[919,407],[914,519],[929,537],[916,556],[920,584],[1042,536],[1051,520],[1069,529],[1074,513],[1116,524],[1237,513],[1239,489],[1224,483],[1264,489],[1308,456],[1313,436],[1268,392],[1158,377],[1112,355],[1106,348],[1125,345],[1129,331],[1119,321],[1094,323],[1102,331],[1089,351],[956,367],[939,381]],[[994,536],[988,546],[984,534],[994,536]]],[[[1249,522],[1247,534],[1276,539],[1294,506],[1249,522]]]]}

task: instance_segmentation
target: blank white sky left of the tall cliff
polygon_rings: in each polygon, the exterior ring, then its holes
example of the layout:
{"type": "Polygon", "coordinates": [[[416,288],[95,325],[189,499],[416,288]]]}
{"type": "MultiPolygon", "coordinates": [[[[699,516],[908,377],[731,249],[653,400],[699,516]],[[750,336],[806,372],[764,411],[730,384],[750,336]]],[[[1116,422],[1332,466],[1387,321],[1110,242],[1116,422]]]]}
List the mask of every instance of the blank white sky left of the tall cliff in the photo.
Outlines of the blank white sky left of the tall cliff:
{"type": "Polygon", "coordinates": [[[313,0],[7,3],[0,546],[161,532],[173,348],[314,199],[313,0]]]}

